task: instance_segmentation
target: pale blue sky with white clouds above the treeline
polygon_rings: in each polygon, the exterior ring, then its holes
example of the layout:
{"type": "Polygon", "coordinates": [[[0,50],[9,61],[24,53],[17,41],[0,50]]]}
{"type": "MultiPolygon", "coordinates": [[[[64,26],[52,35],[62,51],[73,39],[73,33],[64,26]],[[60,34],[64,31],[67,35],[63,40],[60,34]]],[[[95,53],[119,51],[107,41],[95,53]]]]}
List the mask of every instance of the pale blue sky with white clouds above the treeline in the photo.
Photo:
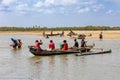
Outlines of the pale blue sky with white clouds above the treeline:
{"type": "Polygon", "coordinates": [[[120,0],[0,0],[0,26],[120,26],[120,0]]]}

